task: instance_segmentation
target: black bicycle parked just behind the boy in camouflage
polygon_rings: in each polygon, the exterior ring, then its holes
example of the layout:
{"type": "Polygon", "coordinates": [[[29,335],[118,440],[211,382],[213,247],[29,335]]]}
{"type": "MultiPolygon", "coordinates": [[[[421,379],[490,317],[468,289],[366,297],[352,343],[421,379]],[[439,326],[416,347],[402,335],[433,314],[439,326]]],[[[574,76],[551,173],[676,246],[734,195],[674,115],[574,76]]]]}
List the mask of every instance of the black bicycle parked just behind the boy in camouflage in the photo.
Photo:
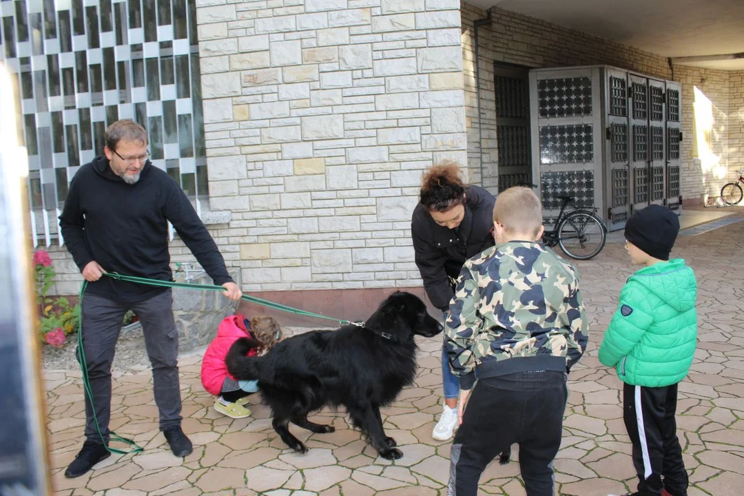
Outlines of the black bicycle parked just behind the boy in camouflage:
{"type": "MultiPolygon", "coordinates": [[[[536,184],[519,183],[517,186],[536,188],[536,184]]],[[[574,201],[573,196],[559,196],[561,206],[551,231],[542,233],[542,241],[548,248],[559,246],[567,257],[574,260],[589,260],[596,257],[607,241],[607,226],[597,215],[597,207],[565,208],[574,201]]]]}

